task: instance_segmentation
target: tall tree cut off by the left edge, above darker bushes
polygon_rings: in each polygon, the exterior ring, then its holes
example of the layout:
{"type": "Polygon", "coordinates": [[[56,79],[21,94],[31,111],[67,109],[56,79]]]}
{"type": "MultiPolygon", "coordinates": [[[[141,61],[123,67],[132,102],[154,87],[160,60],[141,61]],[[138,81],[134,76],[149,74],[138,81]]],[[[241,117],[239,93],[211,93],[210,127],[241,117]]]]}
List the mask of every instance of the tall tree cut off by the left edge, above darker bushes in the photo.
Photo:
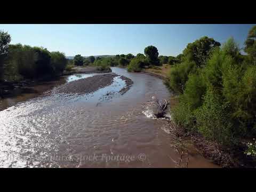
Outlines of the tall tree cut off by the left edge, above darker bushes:
{"type": "Polygon", "coordinates": [[[0,30],[0,81],[3,79],[3,66],[6,59],[6,56],[8,54],[8,48],[9,43],[11,42],[11,36],[4,32],[3,30],[0,30]]]}

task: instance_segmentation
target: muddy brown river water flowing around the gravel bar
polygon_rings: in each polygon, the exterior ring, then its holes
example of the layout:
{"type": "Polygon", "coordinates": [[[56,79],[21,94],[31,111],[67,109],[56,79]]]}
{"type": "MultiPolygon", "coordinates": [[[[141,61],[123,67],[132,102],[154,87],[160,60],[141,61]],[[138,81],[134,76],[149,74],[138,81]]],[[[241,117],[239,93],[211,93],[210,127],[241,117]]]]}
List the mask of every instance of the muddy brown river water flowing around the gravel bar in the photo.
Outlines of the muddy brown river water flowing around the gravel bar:
{"type": "MultiPolygon", "coordinates": [[[[152,97],[163,100],[171,93],[161,79],[111,69],[132,79],[125,94],[118,93],[125,82],[115,77],[94,93],[12,98],[13,106],[0,111],[0,166],[177,167],[180,154],[172,147],[166,119],[142,113],[152,97]]],[[[49,86],[92,75],[99,74],[62,77],[49,86]]],[[[8,107],[6,102],[2,105],[8,107]]],[[[188,167],[218,166],[191,149],[188,167]]]]}

